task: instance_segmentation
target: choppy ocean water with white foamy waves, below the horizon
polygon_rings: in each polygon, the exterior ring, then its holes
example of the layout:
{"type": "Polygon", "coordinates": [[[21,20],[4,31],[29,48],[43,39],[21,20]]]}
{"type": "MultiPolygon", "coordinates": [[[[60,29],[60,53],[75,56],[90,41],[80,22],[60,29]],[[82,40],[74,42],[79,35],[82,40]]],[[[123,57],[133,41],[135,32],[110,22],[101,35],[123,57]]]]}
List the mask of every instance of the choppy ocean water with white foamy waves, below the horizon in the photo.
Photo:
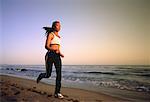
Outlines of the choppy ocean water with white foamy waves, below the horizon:
{"type": "MultiPolygon", "coordinates": [[[[0,65],[1,75],[36,80],[43,72],[44,65],[0,65]]],[[[53,67],[51,77],[41,81],[55,85],[55,78],[53,67]]],[[[116,89],[150,95],[150,65],[63,65],[62,86],[104,93],[116,89]]],[[[115,92],[117,94],[117,91],[112,93],[115,92]]]]}

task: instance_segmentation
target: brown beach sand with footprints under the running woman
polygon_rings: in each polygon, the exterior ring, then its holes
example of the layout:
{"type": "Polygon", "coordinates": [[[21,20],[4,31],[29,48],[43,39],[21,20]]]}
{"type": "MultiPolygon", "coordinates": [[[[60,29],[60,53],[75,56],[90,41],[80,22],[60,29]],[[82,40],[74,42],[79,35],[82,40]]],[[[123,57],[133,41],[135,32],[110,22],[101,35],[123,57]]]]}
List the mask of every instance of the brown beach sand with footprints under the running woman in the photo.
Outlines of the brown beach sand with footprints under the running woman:
{"type": "Polygon", "coordinates": [[[130,102],[125,99],[112,97],[75,88],[62,87],[63,99],[54,97],[55,86],[35,80],[0,76],[1,102],[130,102]]]}

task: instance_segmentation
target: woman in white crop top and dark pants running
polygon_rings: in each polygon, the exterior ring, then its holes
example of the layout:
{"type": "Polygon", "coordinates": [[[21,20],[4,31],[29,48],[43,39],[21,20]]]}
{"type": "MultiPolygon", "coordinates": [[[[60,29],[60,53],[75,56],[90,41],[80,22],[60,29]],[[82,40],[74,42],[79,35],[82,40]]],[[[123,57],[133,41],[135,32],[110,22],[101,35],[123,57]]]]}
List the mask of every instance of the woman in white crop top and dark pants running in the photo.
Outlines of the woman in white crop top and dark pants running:
{"type": "Polygon", "coordinates": [[[61,88],[61,58],[64,55],[60,52],[60,36],[58,32],[60,31],[60,22],[54,21],[52,24],[52,30],[47,34],[47,39],[45,43],[45,48],[48,52],[45,55],[46,73],[41,73],[37,78],[37,83],[42,78],[49,78],[52,72],[52,66],[55,65],[56,68],[56,87],[55,87],[55,97],[63,98],[64,96],[60,93],[61,88]]]}

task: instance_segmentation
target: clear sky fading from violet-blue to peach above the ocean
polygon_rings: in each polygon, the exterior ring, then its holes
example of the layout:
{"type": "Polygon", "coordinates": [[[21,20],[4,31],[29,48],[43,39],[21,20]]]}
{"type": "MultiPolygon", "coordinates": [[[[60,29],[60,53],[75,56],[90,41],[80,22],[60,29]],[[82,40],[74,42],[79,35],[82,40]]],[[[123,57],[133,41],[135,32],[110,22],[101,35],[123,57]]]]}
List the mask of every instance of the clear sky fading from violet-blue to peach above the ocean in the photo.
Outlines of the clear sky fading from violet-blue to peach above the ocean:
{"type": "Polygon", "coordinates": [[[44,64],[61,22],[65,65],[150,64],[149,0],[0,0],[0,64],[44,64]]]}

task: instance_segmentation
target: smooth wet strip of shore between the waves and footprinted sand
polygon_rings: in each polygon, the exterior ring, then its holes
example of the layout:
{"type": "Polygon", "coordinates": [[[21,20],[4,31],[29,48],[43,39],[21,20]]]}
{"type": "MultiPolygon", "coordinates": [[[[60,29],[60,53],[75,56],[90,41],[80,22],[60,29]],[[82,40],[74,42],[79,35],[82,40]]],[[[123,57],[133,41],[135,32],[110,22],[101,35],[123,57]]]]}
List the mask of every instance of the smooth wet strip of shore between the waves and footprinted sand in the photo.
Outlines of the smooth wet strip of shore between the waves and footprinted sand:
{"type": "MultiPolygon", "coordinates": [[[[13,74],[0,74],[0,76],[9,76],[9,77],[15,77],[15,78],[21,78],[25,80],[31,80],[36,81],[36,77],[29,77],[29,76],[20,76],[20,75],[13,75],[13,74]]],[[[40,81],[41,84],[52,86],[53,89],[55,87],[55,79],[43,79],[40,81]]],[[[62,80],[62,86],[63,88],[70,88],[70,89],[79,89],[79,90],[85,90],[89,92],[94,92],[97,94],[105,94],[108,96],[121,98],[124,100],[130,100],[132,102],[149,102],[150,100],[150,93],[145,92],[136,92],[136,91],[130,91],[130,90],[120,90],[116,88],[110,88],[110,87],[95,87],[93,85],[89,85],[86,83],[76,83],[76,82],[67,82],[65,80],[62,80]]]]}

